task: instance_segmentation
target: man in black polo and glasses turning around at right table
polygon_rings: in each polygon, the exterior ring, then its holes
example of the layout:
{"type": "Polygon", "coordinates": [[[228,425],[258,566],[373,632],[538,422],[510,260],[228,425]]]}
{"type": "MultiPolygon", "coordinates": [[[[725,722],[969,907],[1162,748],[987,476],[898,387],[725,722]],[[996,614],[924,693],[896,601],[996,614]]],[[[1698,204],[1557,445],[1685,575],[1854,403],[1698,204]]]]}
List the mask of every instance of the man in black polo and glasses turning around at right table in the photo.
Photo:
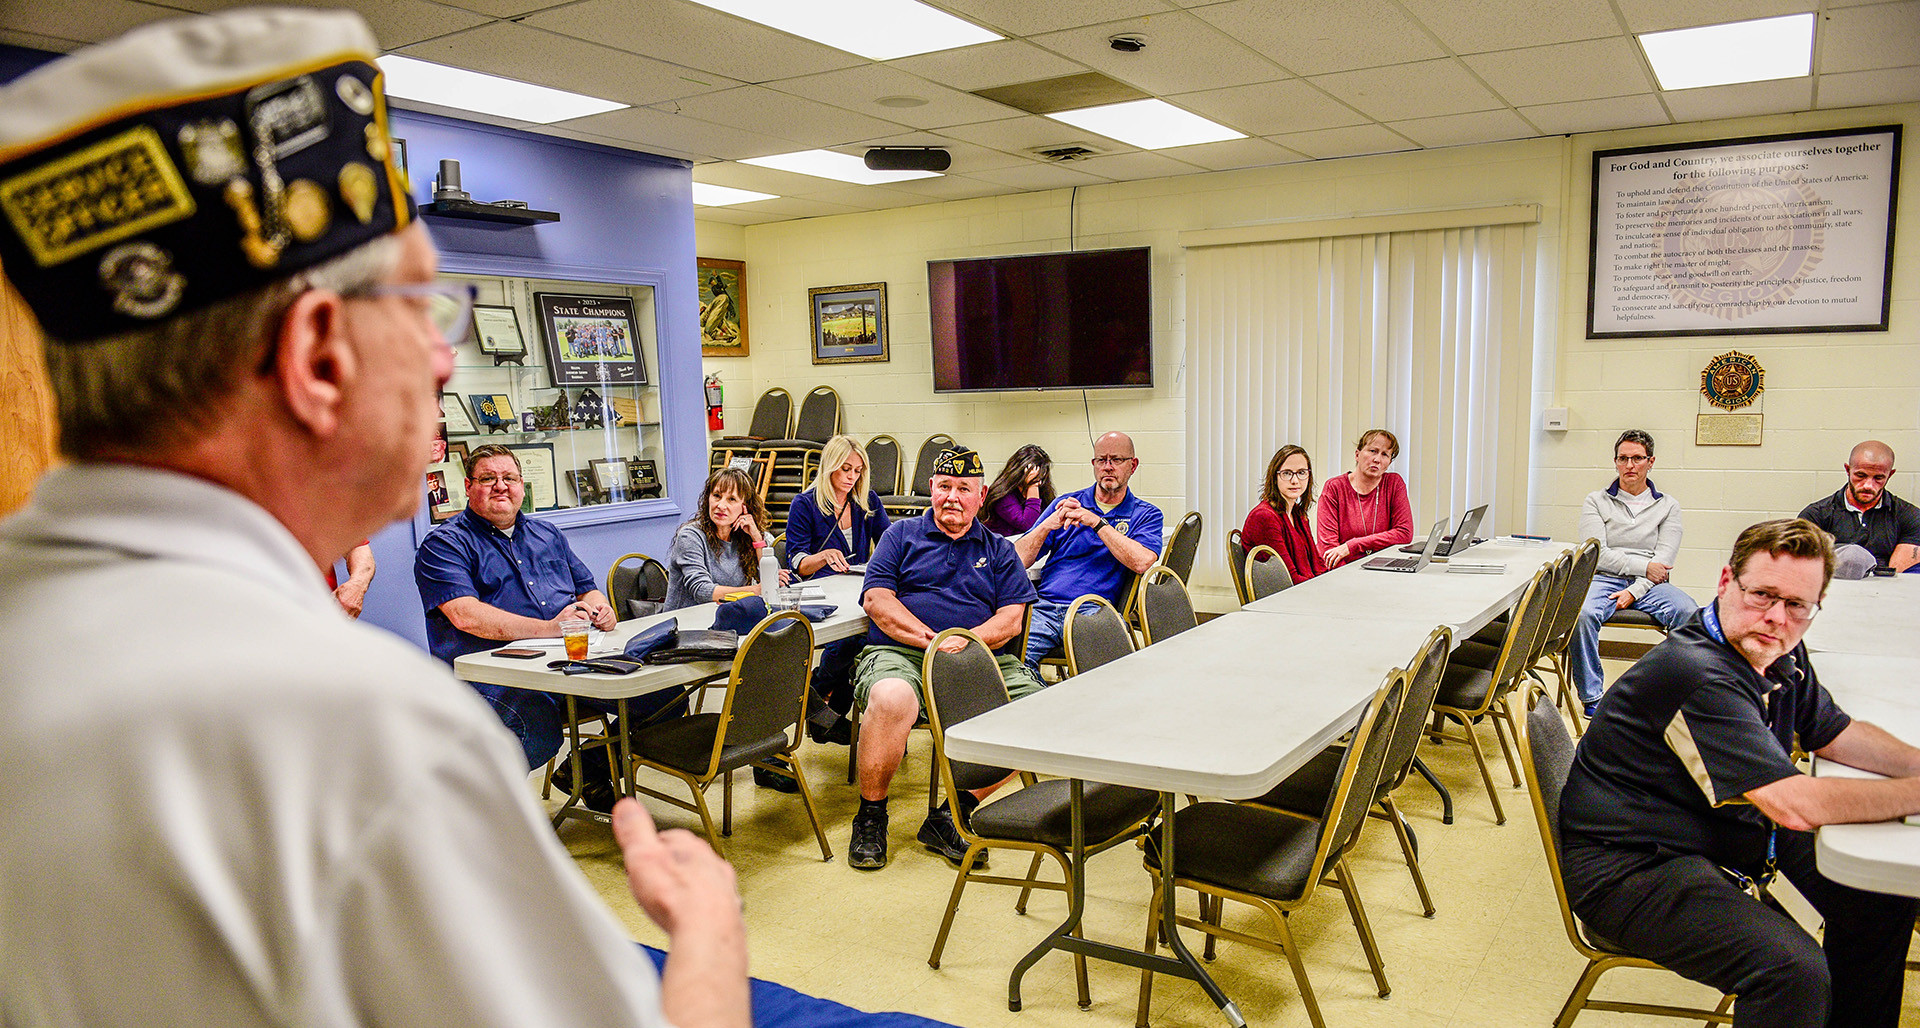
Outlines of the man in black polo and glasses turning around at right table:
{"type": "Polygon", "coordinates": [[[1741,1028],[1893,1028],[1901,1015],[1914,901],[1814,867],[1814,828],[1920,813],[1920,749],[1836,707],[1801,646],[1832,575],[1811,521],[1741,532],[1715,601],[1615,682],[1561,795],[1580,920],[1738,995],[1741,1028]],[[1795,740],[1889,778],[1803,774],[1795,740]],[[1824,953],[1745,892],[1776,870],[1826,918],[1824,953]]]}

